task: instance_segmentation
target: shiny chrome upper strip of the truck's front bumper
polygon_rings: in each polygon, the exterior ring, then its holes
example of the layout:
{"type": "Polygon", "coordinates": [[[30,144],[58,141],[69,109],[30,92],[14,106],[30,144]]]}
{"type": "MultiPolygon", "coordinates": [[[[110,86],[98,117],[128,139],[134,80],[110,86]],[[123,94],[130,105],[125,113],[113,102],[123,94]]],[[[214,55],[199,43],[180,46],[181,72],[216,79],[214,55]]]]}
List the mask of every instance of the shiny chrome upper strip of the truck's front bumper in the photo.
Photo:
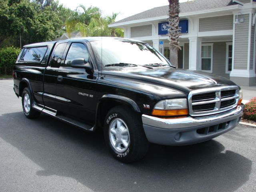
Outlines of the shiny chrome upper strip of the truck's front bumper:
{"type": "Polygon", "coordinates": [[[237,108],[224,112],[221,114],[214,114],[207,117],[186,117],[186,118],[158,118],[153,116],[142,115],[142,123],[144,125],[153,126],[162,129],[178,129],[178,128],[190,128],[195,126],[204,126],[208,124],[216,124],[229,120],[236,119],[242,116],[243,108],[238,106],[237,108]]]}

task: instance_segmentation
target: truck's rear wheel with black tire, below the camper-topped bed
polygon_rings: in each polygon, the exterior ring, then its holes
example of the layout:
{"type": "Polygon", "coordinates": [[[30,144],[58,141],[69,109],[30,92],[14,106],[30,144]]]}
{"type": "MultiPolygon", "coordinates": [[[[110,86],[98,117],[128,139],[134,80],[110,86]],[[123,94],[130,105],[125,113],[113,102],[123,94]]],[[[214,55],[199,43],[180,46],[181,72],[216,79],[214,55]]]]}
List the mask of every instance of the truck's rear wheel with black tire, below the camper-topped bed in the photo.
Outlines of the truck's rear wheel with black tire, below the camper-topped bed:
{"type": "Polygon", "coordinates": [[[26,118],[34,119],[40,116],[40,112],[32,108],[32,97],[28,87],[22,91],[22,109],[26,118]]]}

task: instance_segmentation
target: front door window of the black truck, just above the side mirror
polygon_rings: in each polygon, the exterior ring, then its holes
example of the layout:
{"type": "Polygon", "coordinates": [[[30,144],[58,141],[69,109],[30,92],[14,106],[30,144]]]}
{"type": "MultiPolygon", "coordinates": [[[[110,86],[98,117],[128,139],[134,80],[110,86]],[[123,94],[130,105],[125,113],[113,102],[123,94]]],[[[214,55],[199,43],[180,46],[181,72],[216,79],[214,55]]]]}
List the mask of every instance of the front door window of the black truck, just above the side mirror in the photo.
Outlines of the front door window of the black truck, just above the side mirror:
{"type": "Polygon", "coordinates": [[[70,63],[73,59],[84,58],[88,61],[89,55],[86,46],[82,43],[72,43],[64,63],[64,67],[70,67],[70,63]]]}

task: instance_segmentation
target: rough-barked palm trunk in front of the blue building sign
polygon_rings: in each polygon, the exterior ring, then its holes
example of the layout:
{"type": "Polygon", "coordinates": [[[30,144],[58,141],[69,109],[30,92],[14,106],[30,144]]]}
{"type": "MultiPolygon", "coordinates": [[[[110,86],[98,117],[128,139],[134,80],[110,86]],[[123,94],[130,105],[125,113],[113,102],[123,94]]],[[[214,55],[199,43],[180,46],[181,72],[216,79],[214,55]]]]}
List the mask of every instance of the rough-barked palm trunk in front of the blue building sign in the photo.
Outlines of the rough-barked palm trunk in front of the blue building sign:
{"type": "Polygon", "coordinates": [[[168,36],[170,40],[170,62],[172,65],[178,67],[178,49],[181,50],[179,46],[180,38],[180,4],[179,0],[168,0],[169,1],[169,18],[168,18],[168,36]]]}

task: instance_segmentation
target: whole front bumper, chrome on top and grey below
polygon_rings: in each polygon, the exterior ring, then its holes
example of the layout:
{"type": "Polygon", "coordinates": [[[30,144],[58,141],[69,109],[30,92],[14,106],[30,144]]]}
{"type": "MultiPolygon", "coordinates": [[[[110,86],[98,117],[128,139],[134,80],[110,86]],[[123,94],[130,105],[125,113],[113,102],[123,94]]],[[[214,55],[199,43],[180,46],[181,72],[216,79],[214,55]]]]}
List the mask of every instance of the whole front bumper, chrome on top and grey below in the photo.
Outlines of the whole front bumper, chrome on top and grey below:
{"type": "Polygon", "coordinates": [[[142,115],[149,142],[162,145],[188,145],[204,142],[232,130],[240,122],[243,104],[221,114],[206,117],[157,118],[142,115]]]}

